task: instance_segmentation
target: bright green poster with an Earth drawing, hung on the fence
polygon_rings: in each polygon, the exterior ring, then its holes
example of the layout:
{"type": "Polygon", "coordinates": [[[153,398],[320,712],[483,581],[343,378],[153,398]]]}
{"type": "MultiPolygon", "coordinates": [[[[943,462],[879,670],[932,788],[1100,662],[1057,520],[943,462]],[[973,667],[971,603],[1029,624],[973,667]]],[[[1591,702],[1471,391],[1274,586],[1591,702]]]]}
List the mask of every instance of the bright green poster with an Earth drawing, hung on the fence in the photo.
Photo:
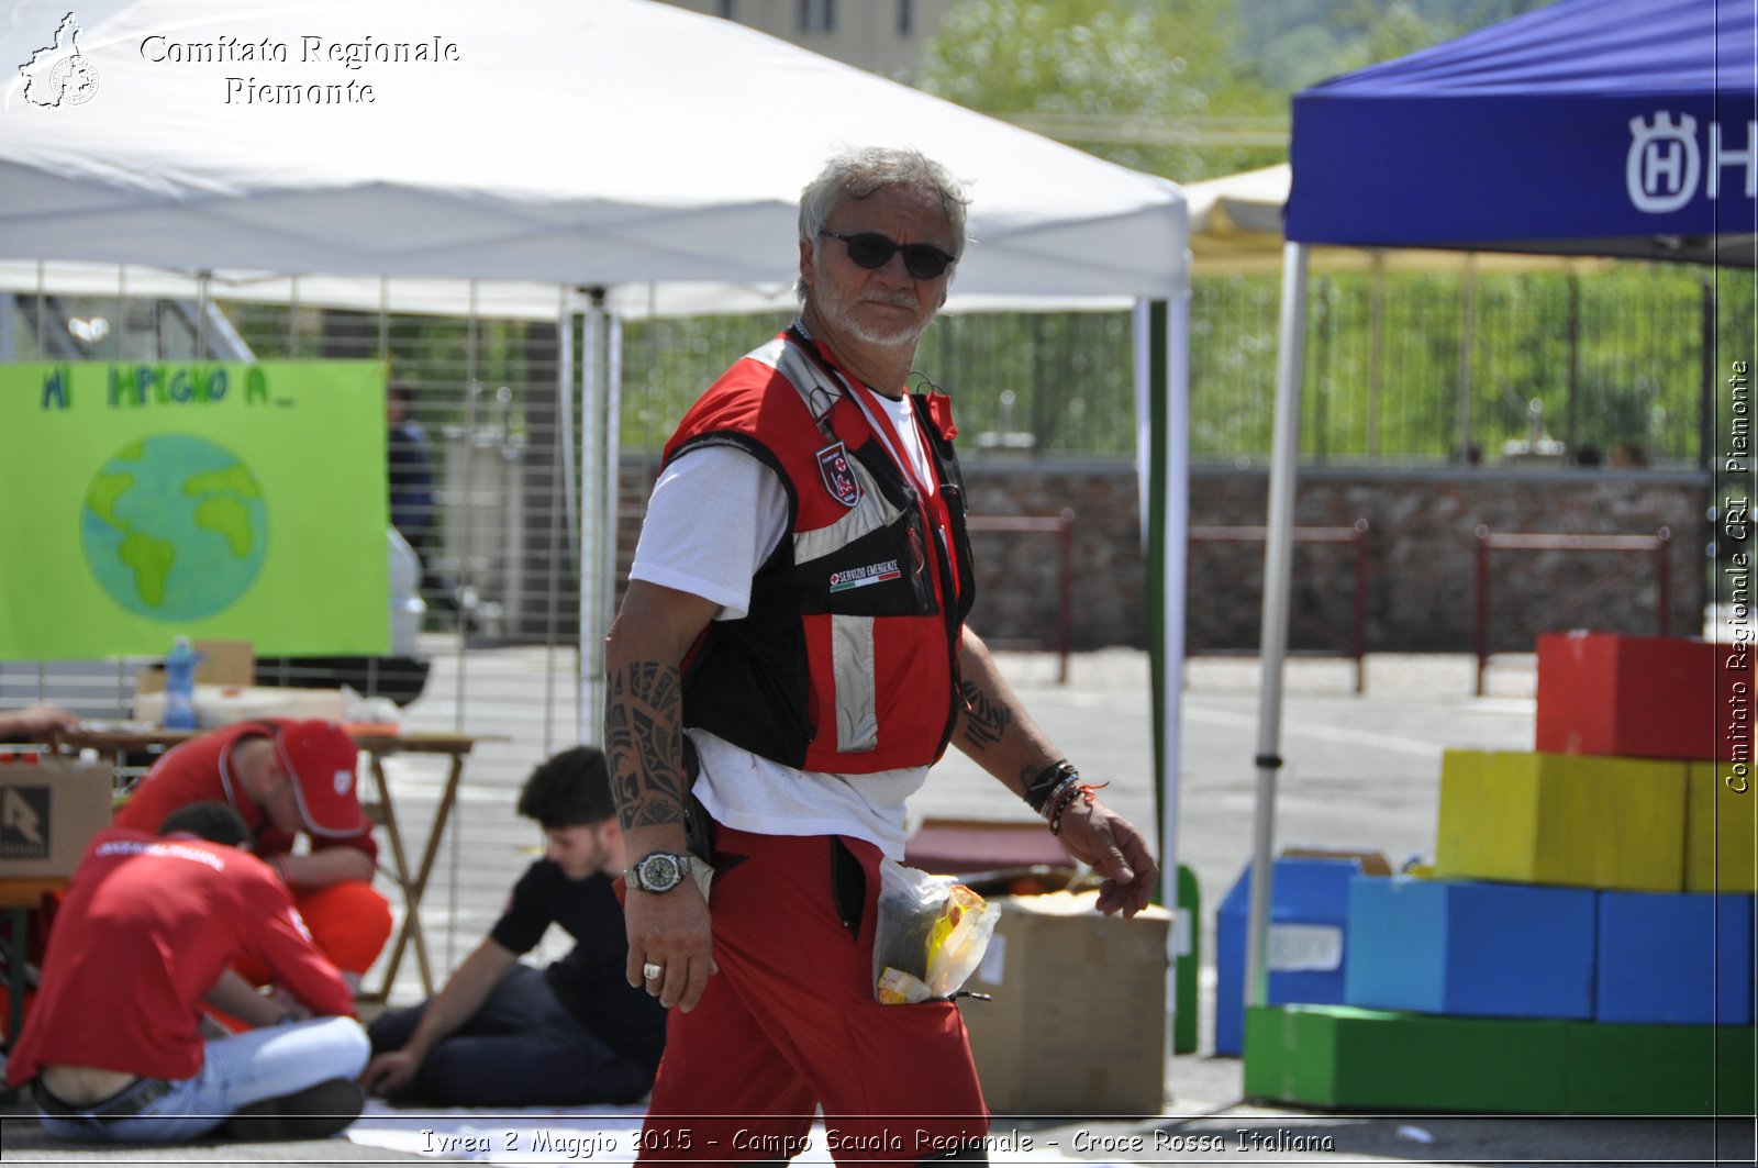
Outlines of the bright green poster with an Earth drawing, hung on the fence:
{"type": "Polygon", "coordinates": [[[373,361],[0,366],[0,660],[383,654],[373,361]]]}

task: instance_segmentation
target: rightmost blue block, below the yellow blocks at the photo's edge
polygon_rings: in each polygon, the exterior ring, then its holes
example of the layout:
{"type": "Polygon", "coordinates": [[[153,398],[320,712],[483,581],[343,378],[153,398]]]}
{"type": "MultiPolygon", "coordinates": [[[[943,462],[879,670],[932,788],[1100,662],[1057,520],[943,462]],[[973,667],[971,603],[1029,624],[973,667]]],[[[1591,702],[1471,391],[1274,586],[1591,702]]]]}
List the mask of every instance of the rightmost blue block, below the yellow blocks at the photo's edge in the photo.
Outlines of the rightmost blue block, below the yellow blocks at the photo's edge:
{"type": "Polygon", "coordinates": [[[1602,892],[1600,1022],[1753,1024],[1753,897],[1602,892]]]}

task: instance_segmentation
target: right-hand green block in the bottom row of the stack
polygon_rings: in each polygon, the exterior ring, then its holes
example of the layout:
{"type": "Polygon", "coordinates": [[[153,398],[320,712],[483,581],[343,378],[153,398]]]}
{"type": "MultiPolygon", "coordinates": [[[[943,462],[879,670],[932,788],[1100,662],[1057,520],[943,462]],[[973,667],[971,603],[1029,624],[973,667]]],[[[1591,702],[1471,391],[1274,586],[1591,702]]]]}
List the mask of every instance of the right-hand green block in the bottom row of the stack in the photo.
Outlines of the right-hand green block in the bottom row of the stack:
{"type": "Polygon", "coordinates": [[[1749,1026],[1565,1026],[1570,1113],[1754,1113],[1749,1026]]]}

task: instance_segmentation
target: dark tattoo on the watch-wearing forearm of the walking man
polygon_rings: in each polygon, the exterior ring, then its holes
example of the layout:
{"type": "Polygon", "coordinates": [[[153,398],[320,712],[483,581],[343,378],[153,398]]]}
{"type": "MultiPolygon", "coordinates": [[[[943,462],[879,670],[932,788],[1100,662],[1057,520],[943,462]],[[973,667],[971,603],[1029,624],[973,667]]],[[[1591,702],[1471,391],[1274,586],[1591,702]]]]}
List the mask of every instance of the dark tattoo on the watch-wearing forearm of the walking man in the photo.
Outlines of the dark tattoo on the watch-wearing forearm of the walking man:
{"type": "Polygon", "coordinates": [[[624,829],[684,821],[684,700],[675,667],[635,661],[610,674],[605,762],[624,829]]]}

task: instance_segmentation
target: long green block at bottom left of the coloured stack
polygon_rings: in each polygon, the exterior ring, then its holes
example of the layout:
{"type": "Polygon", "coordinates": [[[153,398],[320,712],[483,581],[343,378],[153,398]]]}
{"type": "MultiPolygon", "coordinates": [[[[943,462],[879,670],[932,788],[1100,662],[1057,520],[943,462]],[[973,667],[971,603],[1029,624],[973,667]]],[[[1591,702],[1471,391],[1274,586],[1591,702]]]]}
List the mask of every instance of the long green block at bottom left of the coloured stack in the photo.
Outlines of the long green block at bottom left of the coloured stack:
{"type": "Polygon", "coordinates": [[[1245,1094],[1334,1108],[1561,1112],[1565,1024],[1252,1006],[1245,1094]]]}

